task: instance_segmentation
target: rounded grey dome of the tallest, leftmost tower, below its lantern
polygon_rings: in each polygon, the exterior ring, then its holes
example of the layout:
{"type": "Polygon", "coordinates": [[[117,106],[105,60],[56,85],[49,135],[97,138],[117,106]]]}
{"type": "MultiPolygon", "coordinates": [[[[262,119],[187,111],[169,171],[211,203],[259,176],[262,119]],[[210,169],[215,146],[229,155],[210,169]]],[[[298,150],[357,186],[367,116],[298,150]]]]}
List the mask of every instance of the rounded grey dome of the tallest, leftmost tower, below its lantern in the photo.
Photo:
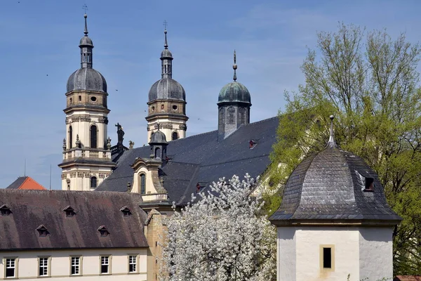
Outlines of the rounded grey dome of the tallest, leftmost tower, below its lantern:
{"type": "Polygon", "coordinates": [[[74,90],[107,93],[107,81],[100,72],[93,68],[79,68],[67,80],[67,92],[74,90]]]}

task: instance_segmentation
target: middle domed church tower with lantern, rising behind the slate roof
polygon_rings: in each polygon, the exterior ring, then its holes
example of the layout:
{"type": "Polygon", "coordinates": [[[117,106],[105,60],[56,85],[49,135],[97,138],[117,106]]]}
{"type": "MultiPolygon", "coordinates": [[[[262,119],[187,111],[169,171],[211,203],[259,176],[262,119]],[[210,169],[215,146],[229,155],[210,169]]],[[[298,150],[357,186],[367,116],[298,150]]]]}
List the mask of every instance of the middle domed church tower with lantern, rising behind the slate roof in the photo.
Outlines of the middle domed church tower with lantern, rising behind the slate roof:
{"type": "Polygon", "coordinates": [[[168,50],[167,31],[161,53],[161,79],[149,90],[147,120],[147,142],[152,133],[160,128],[166,139],[174,141],[185,138],[187,130],[186,93],[178,81],[173,79],[173,54],[168,50]]]}

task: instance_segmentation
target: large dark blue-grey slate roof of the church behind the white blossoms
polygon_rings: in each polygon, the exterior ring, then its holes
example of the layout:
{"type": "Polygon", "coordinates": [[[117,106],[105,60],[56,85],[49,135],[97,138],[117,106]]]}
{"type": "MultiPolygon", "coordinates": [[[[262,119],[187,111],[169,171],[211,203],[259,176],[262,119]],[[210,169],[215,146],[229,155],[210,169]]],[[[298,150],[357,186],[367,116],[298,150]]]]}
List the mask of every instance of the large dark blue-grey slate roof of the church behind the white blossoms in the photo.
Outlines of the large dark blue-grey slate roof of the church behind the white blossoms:
{"type": "MultiPolygon", "coordinates": [[[[168,142],[170,160],[163,164],[160,176],[163,176],[163,187],[168,190],[170,202],[179,205],[189,202],[198,182],[207,186],[234,174],[260,176],[270,163],[269,154],[276,141],[278,124],[277,117],[247,124],[219,142],[218,131],[168,142]],[[257,143],[253,149],[249,148],[251,139],[257,143]]],[[[96,190],[126,191],[127,182],[133,183],[131,164],[136,157],[148,158],[149,155],[149,146],[123,152],[116,160],[113,173],[96,190]]]]}

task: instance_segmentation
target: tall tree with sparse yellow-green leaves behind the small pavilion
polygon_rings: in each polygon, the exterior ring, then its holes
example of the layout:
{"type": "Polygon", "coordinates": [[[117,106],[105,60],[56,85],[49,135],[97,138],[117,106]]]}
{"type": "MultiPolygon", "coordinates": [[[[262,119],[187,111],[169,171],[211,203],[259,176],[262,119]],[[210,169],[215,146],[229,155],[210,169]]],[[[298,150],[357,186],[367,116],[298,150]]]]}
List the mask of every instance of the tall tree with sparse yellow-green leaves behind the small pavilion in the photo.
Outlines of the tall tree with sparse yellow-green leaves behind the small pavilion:
{"type": "MultiPolygon", "coordinates": [[[[405,34],[392,39],[344,24],[320,32],[301,67],[305,84],[285,94],[268,172],[273,186],[286,183],[303,157],[325,147],[335,115],[336,141],[375,169],[403,217],[393,233],[395,274],[421,274],[420,53],[405,34]]],[[[265,197],[270,211],[279,204],[272,194],[265,197]]]]}

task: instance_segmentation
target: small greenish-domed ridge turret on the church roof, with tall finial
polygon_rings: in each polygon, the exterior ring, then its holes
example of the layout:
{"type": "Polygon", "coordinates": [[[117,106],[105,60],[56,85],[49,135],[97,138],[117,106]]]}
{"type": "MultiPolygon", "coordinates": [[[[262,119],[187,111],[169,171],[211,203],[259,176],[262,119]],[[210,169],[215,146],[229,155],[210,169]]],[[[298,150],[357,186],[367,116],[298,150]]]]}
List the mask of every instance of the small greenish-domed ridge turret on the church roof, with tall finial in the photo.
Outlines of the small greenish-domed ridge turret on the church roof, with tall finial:
{"type": "Polygon", "coordinates": [[[218,96],[218,139],[223,140],[250,122],[250,93],[236,81],[236,52],[234,51],[234,81],[225,85],[218,96]]]}

